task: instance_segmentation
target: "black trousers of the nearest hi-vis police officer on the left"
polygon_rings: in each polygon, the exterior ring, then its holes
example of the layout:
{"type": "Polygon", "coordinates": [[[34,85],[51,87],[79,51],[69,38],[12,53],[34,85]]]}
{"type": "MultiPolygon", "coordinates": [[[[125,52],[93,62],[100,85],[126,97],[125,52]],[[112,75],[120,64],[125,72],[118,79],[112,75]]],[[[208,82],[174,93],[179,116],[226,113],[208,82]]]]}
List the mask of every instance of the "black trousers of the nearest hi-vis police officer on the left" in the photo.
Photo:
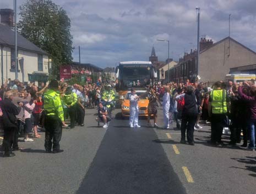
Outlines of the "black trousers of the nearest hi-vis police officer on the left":
{"type": "Polygon", "coordinates": [[[45,116],[45,150],[59,150],[59,141],[62,136],[62,122],[55,115],[45,116]],[[52,142],[53,139],[53,142],[52,142]],[[52,147],[53,143],[53,147],[52,147]]]}

